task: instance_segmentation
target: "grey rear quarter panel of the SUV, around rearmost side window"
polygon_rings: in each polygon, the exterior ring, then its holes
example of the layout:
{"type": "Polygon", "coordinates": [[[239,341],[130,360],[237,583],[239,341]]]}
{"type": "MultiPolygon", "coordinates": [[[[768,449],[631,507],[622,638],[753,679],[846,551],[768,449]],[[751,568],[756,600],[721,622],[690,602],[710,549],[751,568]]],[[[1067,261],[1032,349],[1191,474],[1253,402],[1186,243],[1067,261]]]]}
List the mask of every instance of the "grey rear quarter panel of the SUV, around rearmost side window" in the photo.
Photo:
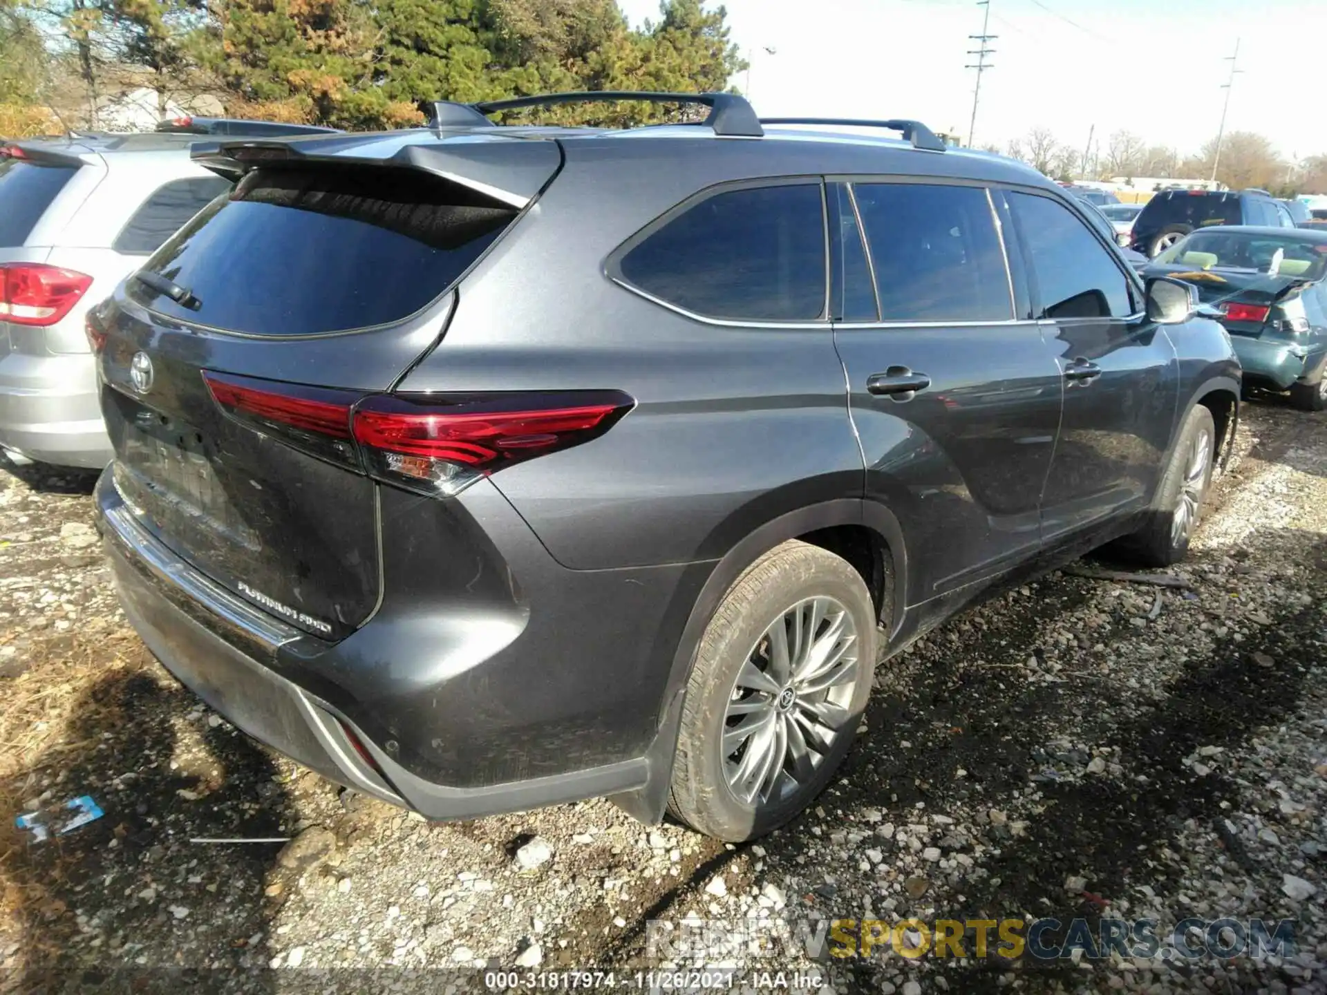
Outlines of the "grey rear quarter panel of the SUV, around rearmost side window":
{"type": "MultiPolygon", "coordinates": [[[[738,143],[697,141],[703,155],[689,139],[568,142],[563,174],[462,284],[442,344],[398,386],[636,399],[602,438],[492,478],[564,566],[714,560],[778,515],[861,494],[827,322],[709,324],[605,275],[605,257],[669,207],[750,175],[738,143]]],[[[790,162],[782,175],[819,171],[790,162]]]]}

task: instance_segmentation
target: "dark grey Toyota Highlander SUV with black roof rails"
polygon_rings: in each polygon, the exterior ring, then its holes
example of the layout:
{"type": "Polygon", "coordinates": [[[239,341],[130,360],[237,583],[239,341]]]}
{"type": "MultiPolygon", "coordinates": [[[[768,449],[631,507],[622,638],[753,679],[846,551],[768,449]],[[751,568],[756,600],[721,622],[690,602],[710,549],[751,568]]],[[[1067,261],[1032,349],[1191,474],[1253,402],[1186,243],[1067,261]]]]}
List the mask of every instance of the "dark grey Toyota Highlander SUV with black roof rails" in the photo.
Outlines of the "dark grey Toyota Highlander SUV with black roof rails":
{"type": "Polygon", "coordinates": [[[430,819],[743,840],[997,581],[1184,555],[1238,364],[1054,183],[725,94],[484,117],[573,98],[195,147],[236,190],[93,313],[125,610],[240,728],[430,819]]]}

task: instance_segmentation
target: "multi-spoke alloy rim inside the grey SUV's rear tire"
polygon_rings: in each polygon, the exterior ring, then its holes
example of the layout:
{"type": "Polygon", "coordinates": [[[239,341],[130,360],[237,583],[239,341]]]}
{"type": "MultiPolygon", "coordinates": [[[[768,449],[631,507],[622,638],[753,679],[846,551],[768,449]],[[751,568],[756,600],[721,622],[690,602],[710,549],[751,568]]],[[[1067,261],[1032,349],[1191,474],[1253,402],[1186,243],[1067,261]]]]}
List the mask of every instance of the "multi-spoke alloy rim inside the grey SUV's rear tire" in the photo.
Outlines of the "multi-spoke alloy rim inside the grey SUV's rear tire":
{"type": "Polygon", "coordinates": [[[852,734],[857,645],[852,613],[831,597],[799,601],[756,639],[723,718],[723,772],[739,801],[787,797],[852,734]]]}

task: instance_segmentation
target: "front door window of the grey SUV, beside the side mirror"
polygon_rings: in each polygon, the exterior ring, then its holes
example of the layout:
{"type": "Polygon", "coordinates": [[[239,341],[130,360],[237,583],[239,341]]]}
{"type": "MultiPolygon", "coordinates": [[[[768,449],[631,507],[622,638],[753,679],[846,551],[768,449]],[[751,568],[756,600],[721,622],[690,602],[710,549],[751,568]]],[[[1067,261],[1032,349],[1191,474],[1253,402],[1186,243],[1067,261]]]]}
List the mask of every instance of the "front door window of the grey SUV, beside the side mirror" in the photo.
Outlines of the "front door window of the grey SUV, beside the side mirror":
{"type": "Polygon", "coordinates": [[[1132,313],[1129,281],[1072,211],[1048,196],[1010,194],[1030,255],[1043,318],[1105,318],[1132,313]]]}

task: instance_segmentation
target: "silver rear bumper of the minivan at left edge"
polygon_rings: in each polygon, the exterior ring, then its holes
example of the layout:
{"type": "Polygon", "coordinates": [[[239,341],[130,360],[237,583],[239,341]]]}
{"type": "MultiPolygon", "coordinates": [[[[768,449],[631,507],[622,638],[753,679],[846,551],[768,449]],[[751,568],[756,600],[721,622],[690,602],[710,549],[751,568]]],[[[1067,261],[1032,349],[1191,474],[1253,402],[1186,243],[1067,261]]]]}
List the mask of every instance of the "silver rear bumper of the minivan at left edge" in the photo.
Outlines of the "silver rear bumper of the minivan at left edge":
{"type": "Polygon", "coordinates": [[[106,466],[114,451],[92,354],[0,357],[0,444],[42,463],[106,466]]]}

